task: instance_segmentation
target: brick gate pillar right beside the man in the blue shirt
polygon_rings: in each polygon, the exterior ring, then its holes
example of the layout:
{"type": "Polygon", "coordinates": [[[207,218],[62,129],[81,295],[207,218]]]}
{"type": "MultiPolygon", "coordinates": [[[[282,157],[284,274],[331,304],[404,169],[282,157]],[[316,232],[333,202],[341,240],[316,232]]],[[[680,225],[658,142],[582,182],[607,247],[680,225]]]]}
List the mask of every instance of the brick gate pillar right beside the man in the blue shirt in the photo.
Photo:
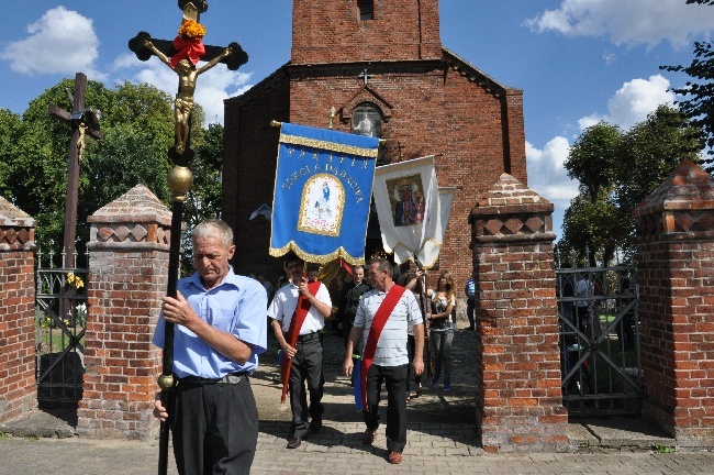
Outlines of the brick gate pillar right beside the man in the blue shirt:
{"type": "Polygon", "coordinates": [[[87,369],[77,433],[152,439],[161,371],[152,335],[166,295],[171,212],[137,185],[88,221],[87,369]]]}

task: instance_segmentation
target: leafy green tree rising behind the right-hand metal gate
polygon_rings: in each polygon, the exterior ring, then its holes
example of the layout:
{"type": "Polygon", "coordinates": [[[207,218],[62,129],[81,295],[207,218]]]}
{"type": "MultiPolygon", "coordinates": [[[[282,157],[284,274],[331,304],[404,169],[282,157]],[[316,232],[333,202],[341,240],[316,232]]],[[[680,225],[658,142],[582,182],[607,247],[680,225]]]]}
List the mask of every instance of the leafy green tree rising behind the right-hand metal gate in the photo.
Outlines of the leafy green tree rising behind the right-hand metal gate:
{"type": "Polygon", "coordinates": [[[625,132],[605,122],[585,129],[565,164],[581,185],[565,213],[564,252],[581,261],[589,250],[594,266],[595,257],[606,264],[616,248],[631,248],[632,211],[682,158],[701,163],[701,130],[669,106],[625,132]]]}

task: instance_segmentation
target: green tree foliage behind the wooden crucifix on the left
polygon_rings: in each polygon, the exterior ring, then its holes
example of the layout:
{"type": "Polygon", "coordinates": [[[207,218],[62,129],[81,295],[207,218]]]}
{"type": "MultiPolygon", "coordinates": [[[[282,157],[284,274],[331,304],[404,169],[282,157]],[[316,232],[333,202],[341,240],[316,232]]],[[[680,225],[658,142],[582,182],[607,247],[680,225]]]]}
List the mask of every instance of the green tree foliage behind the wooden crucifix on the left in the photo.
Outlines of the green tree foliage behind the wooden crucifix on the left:
{"type": "MultiPolygon", "coordinates": [[[[37,220],[35,239],[42,246],[63,240],[67,195],[67,157],[70,128],[48,114],[49,104],[70,110],[66,90],[74,80],[65,79],[34,99],[22,117],[0,110],[0,194],[37,220]]],[[[125,82],[108,89],[96,81],[87,82],[87,108],[101,111],[103,140],[87,137],[80,163],[77,208],[78,250],[89,240],[87,218],[137,184],[143,184],[170,207],[166,174],[172,163],[168,150],[174,145],[174,101],[153,86],[125,82]]],[[[214,181],[220,173],[215,155],[222,153],[223,129],[204,132],[203,111],[196,104],[192,117],[192,146],[202,157],[194,170],[199,188],[192,191],[191,222],[204,212],[214,213],[215,190],[202,186],[214,181]],[[216,139],[214,135],[220,135],[216,139]],[[210,143],[204,143],[208,136],[210,143]],[[221,148],[213,150],[216,144],[221,148]],[[210,175],[205,177],[204,175],[210,175]],[[203,203],[203,194],[209,205],[203,203]]],[[[211,214],[214,216],[214,214],[211,214]]]]}

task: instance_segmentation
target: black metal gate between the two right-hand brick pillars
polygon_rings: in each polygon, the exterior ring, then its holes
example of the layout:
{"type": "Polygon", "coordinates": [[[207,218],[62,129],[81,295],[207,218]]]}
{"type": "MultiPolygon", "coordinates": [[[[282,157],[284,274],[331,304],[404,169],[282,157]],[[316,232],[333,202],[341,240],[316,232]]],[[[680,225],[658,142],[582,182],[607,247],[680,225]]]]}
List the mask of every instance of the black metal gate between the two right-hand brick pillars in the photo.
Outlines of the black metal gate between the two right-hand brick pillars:
{"type": "Polygon", "coordinates": [[[560,268],[562,399],[570,415],[638,415],[642,362],[635,268],[560,268]]]}

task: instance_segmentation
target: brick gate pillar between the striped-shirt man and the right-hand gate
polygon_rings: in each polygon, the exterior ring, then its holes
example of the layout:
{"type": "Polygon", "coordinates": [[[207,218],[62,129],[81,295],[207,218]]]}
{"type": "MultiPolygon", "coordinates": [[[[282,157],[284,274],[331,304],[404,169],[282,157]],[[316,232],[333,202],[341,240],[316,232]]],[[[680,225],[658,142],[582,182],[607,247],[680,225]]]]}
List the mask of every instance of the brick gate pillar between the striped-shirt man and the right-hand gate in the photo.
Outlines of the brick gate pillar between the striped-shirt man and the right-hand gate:
{"type": "Polygon", "coordinates": [[[502,174],[469,216],[477,286],[477,424],[487,452],[560,452],[553,205],[502,174]]]}

